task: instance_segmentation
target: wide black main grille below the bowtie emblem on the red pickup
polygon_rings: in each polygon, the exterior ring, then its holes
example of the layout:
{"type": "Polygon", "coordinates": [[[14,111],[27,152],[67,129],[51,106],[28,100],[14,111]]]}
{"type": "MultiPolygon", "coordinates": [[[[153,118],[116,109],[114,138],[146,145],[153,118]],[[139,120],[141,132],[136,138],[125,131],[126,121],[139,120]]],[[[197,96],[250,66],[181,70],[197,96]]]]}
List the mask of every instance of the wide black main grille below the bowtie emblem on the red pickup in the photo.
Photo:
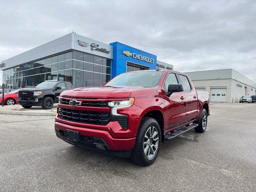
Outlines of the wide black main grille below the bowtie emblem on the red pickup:
{"type": "Polygon", "coordinates": [[[59,108],[59,117],[68,121],[98,125],[107,125],[110,121],[118,121],[123,129],[128,129],[127,116],[114,116],[111,113],[59,108]]]}

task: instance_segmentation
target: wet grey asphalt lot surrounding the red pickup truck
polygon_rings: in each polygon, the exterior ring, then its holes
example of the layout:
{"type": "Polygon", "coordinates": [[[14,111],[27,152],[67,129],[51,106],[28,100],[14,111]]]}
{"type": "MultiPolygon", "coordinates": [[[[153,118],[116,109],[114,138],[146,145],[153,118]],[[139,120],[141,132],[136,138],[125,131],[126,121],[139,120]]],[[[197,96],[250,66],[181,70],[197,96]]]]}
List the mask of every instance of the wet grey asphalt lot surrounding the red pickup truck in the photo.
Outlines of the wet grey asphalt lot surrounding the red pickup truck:
{"type": "Polygon", "coordinates": [[[256,191],[256,103],[213,103],[205,133],[161,145],[154,164],[69,145],[54,116],[0,114],[0,191],[256,191]]]}

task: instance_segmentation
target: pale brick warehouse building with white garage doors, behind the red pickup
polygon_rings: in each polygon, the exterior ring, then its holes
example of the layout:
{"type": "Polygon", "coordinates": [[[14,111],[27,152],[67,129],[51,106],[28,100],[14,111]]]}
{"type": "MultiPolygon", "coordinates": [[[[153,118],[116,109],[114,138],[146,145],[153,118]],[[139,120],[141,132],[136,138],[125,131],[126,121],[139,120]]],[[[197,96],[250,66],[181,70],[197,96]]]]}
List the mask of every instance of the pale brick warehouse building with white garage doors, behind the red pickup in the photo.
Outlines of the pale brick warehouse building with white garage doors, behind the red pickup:
{"type": "Polygon", "coordinates": [[[208,91],[211,102],[237,103],[246,95],[256,95],[256,83],[234,69],[185,72],[197,91],[208,91]]]}

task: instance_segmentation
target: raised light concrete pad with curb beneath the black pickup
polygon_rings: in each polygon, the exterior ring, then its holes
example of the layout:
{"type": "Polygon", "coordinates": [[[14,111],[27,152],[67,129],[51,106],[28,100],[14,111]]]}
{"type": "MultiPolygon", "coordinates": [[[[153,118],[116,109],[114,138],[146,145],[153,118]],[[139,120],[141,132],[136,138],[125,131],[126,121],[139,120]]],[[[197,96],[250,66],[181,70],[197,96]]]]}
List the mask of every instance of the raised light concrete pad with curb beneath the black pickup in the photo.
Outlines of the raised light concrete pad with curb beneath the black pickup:
{"type": "Polygon", "coordinates": [[[57,114],[57,105],[55,103],[53,108],[49,110],[43,109],[41,106],[32,106],[31,108],[23,108],[21,105],[5,105],[0,106],[0,114],[13,114],[13,115],[43,115],[55,116],[57,114]]]}

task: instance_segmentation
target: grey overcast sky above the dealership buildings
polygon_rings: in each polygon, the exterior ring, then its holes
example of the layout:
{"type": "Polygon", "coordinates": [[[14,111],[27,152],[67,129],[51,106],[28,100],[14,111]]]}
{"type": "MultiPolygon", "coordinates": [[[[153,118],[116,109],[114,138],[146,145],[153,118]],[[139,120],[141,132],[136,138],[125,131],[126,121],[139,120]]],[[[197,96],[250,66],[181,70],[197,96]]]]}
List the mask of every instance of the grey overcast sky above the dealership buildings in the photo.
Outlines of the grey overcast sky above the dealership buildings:
{"type": "Polygon", "coordinates": [[[256,82],[255,0],[0,0],[0,7],[1,61],[73,30],[155,54],[176,71],[233,68],[256,82]]]}

